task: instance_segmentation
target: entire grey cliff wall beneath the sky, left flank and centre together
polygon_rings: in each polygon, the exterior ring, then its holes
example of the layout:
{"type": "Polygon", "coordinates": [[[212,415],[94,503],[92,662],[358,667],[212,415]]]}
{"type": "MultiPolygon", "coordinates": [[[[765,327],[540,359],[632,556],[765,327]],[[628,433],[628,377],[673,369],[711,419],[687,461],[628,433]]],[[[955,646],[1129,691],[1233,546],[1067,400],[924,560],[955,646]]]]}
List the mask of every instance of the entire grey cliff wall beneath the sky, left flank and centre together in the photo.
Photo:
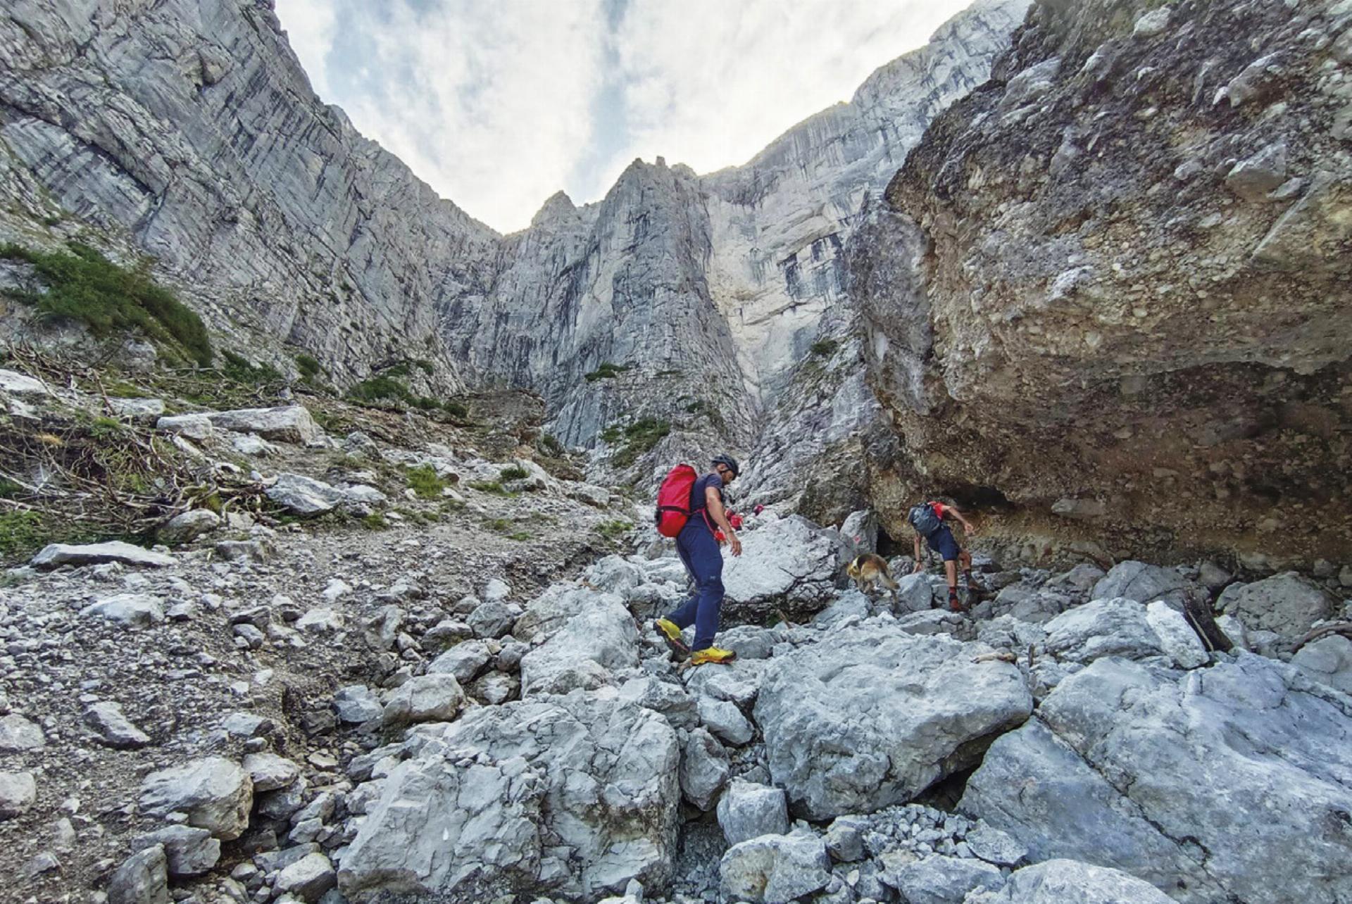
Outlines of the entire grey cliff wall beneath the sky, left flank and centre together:
{"type": "Polygon", "coordinates": [[[304,350],[338,385],[429,359],[419,389],[538,391],[573,445],[669,422],[630,476],[726,445],[752,453],[750,489],[800,497],[842,443],[861,473],[852,436],[876,413],[844,249],[1029,1],[979,0],[744,166],[635,161],[507,236],[322,104],[268,3],[27,3],[0,14],[0,238],[153,255],[219,345],[304,350]]]}

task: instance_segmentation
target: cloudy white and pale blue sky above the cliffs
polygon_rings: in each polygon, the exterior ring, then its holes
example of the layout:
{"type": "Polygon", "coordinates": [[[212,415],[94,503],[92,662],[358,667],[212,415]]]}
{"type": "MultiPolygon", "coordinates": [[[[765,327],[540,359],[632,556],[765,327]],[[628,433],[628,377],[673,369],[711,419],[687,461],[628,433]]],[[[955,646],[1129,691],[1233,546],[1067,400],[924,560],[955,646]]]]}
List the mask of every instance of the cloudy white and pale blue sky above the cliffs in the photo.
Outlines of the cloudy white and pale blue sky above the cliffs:
{"type": "Polygon", "coordinates": [[[277,0],[315,91],[493,228],[742,164],[968,0],[277,0]]]}

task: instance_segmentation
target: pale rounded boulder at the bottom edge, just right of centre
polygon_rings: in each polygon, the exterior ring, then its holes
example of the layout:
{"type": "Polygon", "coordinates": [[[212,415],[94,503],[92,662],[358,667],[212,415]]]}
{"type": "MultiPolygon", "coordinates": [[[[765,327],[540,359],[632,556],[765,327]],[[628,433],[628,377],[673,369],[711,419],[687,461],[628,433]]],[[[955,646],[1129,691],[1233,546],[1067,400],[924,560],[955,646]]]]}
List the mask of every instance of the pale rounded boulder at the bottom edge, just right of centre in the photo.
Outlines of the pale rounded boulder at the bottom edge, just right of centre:
{"type": "Polygon", "coordinates": [[[718,865],[729,901],[787,904],[831,881],[826,845],[811,832],[761,835],[733,845],[718,865]]]}

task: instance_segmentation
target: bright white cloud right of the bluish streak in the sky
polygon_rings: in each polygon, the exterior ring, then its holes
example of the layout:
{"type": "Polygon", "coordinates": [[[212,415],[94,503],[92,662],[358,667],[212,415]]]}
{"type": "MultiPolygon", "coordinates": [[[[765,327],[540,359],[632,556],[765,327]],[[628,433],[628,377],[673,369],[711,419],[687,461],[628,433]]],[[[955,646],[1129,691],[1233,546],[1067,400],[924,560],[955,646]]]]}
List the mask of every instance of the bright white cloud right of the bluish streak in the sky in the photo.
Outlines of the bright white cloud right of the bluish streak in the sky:
{"type": "Polygon", "coordinates": [[[698,172],[742,164],[923,45],[967,0],[638,3],[619,46],[637,153],[698,172]]]}

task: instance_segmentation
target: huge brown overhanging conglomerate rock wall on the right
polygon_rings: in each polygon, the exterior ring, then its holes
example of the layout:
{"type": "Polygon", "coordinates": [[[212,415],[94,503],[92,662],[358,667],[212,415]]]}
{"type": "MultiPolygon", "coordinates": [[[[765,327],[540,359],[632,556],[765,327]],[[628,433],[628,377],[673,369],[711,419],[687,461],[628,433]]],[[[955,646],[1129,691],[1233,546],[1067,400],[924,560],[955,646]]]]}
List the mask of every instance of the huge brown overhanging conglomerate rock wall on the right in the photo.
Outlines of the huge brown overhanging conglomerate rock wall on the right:
{"type": "Polygon", "coordinates": [[[1033,553],[1347,554],[1349,27],[1034,7],[854,245],[884,511],[950,492],[1033,553]]]}

